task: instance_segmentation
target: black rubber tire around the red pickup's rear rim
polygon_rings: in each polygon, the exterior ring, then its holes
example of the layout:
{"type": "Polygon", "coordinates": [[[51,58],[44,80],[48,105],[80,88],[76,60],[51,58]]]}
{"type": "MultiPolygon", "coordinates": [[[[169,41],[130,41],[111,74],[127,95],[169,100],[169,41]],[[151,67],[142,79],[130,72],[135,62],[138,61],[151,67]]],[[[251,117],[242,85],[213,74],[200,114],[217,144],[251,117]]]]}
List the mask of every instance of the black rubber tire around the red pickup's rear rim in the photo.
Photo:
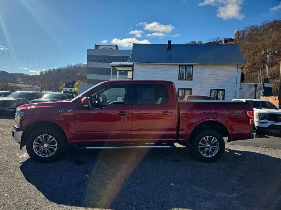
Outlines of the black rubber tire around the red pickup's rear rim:
{"type": "MultiPolygon", "coordinates": [[[[215,162],[217,161],[218,159],[221,158],[221,156],[223,155],[224,153],[224,149],[225,149],[225,143],[224,143],[224,139],[222,138],[222,136],[214,131],[214,130],[205,130],[205,131],[199,131],[197,132],[194,136],[193,136],[194,139],[192,139],[192,144],[191,144],[191,150],[192,150],[192,154],[194,154],[194,156],[199,159],[200,161],[202,162],[215,162]],[[215,153],[214,156],[210,156],[210,157],[207,157],[207,156],[204,156],[203,154],[201,154],[201,152],[199,151],[199,143],[200,141],[206,137],[206,136],[211,136],[211,137],[214,137],[215,139],[217,139],[218,141],[218,150],[217,152],[214,152],[215,149],[211,149],[211,152],[210,151],[206,151],[206,155],[210,155],[210,153],[215,153]]],[[[210,141],[211,141],[211,138],[210,138],[210,141]]],[[[217,143],[215,143],[217,144],[217,143]]],[[[214,145],[211,145],[211,146],[215,146],[214,145]]],[[[200,144],[201,145],[201,144],[200,144]]],[[[201,150],[204,150],[205,147],[202,147],[201,150]]]]}

